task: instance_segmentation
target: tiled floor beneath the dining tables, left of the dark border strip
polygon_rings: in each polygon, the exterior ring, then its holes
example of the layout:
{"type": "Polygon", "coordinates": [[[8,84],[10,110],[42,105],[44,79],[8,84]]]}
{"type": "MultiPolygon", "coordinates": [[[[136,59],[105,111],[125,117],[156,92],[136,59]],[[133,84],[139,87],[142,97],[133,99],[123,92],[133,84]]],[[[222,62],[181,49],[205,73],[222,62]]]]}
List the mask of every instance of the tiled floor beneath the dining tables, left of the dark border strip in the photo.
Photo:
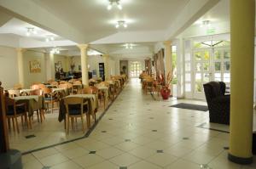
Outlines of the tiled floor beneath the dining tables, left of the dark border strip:
{"type": "MultiPolygon", "coordinates": [[[[108,100],[108,104],[111,104],[110,100],[108,100]]],[[[96,117],[99,118],[103,112],[103,102],[101,102],[101,106],[96,113],[96,117]]],[[[31,151],[32,149],[39,149],[53,144],[67,142],[69,140],[73,140],[74,138],[84,137],[80,119],[78,120],[75,130],[69,132],[67,135],[64,129],[64,121],[59,122],[58,115],[58,109],[55,109],[53,113],[50,111],[47,112],[45,114],[45,120],[43,123],[39,123],[37,116],[34,115],[32,129],[22,127],[19,118],[20,133],[14,132],[12,127],[9,130],[10,147],[12,149],[19,149],[21,152],[27,152],[31,151]],[[35,137],[26,138],[27,136],[35,137]]],[[[93,125],[93,122],[94,120],[91,119],[91,125],[93,125]]]]}

